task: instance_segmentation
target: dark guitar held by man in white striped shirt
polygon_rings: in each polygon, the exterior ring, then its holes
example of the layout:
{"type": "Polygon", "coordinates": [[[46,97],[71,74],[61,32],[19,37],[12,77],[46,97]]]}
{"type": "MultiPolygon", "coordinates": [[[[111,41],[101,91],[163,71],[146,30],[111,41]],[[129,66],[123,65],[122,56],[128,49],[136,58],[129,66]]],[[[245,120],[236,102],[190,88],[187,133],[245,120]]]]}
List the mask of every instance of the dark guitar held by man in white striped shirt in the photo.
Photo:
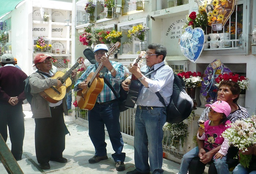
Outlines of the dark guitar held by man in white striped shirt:
{"type": "MultiPolygon", "coordinates": [[[[134,61],[134,65],[137,65],[140,59],[142,58],[143,54],[145,52],[141,51],[141,53],[138,55],[138,57],[134,61]]],[[[129,86],[129,91],[127,95],[127,99],[125,102],[125,107],[128,108],[134,108],[135,103],[137,101],[138,95],[139,95],[139,90],[140,90],[141,82],[132,74],[131,78],[131,84],[129,86]]]]}

